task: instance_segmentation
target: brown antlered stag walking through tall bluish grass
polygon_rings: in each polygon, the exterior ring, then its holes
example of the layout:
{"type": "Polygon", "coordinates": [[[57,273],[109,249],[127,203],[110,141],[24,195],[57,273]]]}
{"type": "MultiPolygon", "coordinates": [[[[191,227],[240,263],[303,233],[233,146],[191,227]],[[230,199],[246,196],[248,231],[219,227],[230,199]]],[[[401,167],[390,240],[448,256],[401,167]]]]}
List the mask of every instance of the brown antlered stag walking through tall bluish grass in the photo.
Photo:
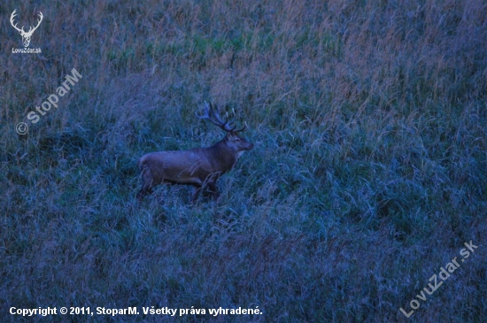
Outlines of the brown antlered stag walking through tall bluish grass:
{"type": "Polygon", "coordinates": [[[192,196],[192,203],[197,201],[199,194],[210,193],[214,200],[220,196],[216,181],[224,173],[230,171],[244,151],[252,150],[253,144],[238,135],[246,130],[247,125],[236,130],[232,127],[234,119],[222,120],[218,107],[205,103],[203,115],[198,119],[208,119],[215,126],[220,127],[226,135],[220,142],[211,147],[194,148],[191,150],[158,151],[143,155],[138,160],[143,186],[137,193],[137,200],[152,193],[152,188],[159,184],[192,185],[196,188],[192,196]]]}

